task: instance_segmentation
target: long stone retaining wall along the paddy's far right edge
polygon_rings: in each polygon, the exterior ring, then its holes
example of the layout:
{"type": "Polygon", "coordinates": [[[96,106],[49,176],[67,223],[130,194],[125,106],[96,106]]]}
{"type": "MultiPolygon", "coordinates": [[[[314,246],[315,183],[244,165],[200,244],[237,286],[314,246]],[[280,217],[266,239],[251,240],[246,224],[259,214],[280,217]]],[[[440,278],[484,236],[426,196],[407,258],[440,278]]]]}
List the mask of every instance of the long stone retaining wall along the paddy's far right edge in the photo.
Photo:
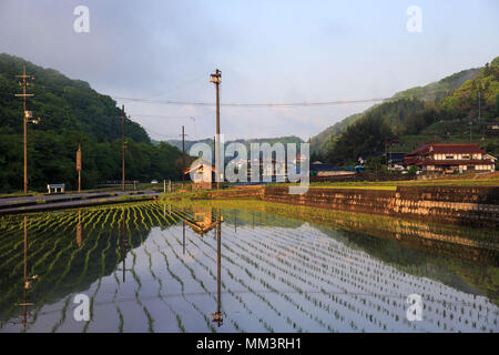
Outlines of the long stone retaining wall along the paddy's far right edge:
{"type": "Polygon", "coordinates": [[[289,194],[287,186],[248,186],[212,192],[210,197],[258,199],[426,222],[499,227],[497,186],[399,186],[396,191],[310,187],[303,195],[289,194]]]}

